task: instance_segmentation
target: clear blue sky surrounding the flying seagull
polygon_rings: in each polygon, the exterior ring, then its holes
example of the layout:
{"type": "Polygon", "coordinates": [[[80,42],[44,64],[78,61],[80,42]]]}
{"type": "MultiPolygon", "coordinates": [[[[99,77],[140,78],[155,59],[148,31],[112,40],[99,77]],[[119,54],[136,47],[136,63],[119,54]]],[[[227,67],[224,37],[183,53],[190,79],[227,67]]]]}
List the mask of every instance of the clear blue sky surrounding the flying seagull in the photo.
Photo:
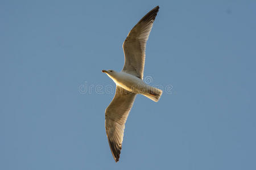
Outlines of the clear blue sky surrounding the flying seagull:
{"type": "Polygon", "coordinates": [[[1,1],[0,169],[256,169],[255,6],[1,1]],[[173,88],[137,96],[115,163],[101,70],[122,69],[122,42],[156,5],[144,76],[173,88]]]}

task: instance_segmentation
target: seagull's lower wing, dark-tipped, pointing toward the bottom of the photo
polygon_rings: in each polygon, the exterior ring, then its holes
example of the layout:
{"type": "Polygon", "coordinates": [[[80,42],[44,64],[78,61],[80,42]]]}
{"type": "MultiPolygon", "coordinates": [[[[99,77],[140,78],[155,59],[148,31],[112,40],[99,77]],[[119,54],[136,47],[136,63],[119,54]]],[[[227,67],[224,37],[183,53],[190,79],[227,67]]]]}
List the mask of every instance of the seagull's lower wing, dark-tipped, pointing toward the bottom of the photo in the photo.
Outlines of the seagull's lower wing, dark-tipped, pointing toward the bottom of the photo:
{"type": "Polygon", "coordinates": [[[105,111],[106,134],[115,162],[119,160],[125,122],[131,107],[133,107],[135,96],[136,94],[133,92],[126,91],[122,87],[117,86],[114,99],[105,111]]]}

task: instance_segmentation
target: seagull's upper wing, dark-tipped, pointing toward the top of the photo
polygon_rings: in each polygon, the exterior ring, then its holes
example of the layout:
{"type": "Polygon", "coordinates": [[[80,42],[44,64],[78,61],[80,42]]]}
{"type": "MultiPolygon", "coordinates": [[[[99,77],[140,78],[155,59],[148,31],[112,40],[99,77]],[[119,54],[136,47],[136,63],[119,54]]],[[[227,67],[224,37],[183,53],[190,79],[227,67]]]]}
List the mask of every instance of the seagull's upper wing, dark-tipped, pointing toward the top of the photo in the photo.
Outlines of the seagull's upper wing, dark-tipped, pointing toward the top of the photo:
{"type": "Polygon", "coordinates": [[[129,32],[123,42],[123,53],[125,53],[125,65],[123,70],[126,73],[143,79],[146,42],[158,14],[159,6],[148,12],[129,32]]]}

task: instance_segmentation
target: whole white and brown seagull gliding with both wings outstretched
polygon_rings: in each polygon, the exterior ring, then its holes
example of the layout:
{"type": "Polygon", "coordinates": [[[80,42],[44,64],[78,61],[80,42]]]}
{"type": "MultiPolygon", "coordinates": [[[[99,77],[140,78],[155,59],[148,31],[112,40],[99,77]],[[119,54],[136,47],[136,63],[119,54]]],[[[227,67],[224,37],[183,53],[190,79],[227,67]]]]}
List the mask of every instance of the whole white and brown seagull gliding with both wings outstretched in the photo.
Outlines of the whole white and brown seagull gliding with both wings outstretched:
{"type": "Polygon", "coordinates": [[[156,6],[139,20],[123,42],[123,53],[125,53],[123,70],[121,72],[102,70],[117,86],[114,99],[105,111],[106,134],[115,162],[119,160],[125,122],[136,95],[142,94],[155,102],[158,102],[162,95],[162,90],[143,82],[146,42],[158,10],[159,6],[156,6]]]}

